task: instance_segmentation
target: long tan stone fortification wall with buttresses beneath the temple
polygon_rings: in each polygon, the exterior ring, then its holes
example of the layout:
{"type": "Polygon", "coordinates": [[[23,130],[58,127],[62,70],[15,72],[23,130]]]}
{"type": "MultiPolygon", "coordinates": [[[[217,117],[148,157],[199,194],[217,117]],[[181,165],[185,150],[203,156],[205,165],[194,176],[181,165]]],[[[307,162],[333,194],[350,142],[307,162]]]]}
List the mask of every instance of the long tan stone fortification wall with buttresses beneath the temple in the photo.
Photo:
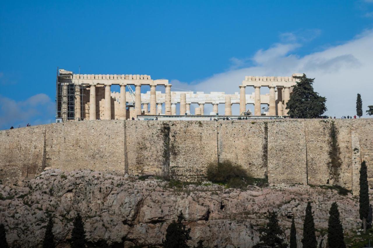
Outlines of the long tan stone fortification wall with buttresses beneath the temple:
{"type": "Polygon", "coordinates": [[[366,160],[373,185],[373,119],[238,121],[73,121],[0,131],[0,179],[34,177],[45,167],[109,170],[132,175],[204,177],[226,159],[270,183],[338,183],[352,188],[366,160]],[[330,168],[330,128],[337,131],[341,166],[330,168]],[[352,144],[352,136],[354,145],[352,144]],[[358,146],[359,151],[353,146],[358,146]],[[355,165],[352,168],[352,165],[355,165]]]}

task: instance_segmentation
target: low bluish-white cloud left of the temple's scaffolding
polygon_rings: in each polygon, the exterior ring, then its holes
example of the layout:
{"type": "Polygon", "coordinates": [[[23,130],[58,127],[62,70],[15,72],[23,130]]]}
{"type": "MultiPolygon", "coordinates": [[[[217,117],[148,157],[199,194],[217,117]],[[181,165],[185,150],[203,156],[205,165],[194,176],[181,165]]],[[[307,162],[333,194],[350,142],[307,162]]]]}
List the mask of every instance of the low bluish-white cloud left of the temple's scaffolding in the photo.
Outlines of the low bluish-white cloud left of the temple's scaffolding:
{"type": "Polygon", "coordinates": [[[54,112],[54,102],[43,93],[18,102],[0,96],[0,129],[24,127],[27,123],[46,124],[54,117],[54,112]]]}

